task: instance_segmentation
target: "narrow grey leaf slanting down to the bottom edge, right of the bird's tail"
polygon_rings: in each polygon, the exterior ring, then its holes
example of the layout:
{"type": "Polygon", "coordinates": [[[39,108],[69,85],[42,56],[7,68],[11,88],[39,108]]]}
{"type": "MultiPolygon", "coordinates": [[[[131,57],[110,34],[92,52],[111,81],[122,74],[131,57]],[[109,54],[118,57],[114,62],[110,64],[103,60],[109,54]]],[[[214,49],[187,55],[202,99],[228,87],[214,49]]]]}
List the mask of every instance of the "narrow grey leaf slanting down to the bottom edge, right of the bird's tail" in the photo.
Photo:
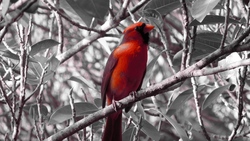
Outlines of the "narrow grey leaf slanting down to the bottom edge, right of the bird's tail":
{"type": "Polygon", "coordinates": [[[176,121],[174,121],[172,118],[170,118],[167,115],[163,115],[163,116],[175,128],[175,130],[179,134],[179,136],[182,139],[182,141],[189,141],[189,138],[187,136],[186,131],[184,129],[182,129],[181,126],[176,121]]]}

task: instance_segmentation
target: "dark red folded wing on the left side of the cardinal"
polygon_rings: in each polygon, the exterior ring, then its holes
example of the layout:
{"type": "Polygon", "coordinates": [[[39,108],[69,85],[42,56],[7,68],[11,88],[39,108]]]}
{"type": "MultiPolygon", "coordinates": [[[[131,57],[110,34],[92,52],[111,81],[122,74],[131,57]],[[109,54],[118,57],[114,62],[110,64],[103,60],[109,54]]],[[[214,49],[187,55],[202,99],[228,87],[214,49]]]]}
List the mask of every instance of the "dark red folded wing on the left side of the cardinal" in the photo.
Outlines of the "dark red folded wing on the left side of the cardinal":
{"type": "Polygon", "coordinates": [[[106,67],[104,69],[103,78],[102,78],[102,87],[101,87],[101,95],[102,95],[102,107],[105,107],[106,104],[106,91],[109,85],[110,77],[113,73],[114,67],[117,63],[117,58],[114,57],[113,53],[109,56],[106,67]]]}

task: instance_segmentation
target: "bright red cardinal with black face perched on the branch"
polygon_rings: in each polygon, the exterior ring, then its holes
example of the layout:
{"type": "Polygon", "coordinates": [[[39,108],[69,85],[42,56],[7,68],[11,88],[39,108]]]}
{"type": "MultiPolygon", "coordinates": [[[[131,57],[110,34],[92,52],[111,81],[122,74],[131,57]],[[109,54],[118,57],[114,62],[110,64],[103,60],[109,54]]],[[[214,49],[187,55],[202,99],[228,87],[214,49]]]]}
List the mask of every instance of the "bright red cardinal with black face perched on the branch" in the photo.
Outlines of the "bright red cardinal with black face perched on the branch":
{"type": "MultiPolygon", "coordinates": [[[[102,107],[140,89],[147,66],[149,31],[154,26],[138,22],[124,31],[121,44],[111,53],[102,79],[102,107]]],[[[131,107],[125,108],[129,111],[131,107]]],[[[122,141],[122,110],[106,119],[103,141],[122,141]]]]}

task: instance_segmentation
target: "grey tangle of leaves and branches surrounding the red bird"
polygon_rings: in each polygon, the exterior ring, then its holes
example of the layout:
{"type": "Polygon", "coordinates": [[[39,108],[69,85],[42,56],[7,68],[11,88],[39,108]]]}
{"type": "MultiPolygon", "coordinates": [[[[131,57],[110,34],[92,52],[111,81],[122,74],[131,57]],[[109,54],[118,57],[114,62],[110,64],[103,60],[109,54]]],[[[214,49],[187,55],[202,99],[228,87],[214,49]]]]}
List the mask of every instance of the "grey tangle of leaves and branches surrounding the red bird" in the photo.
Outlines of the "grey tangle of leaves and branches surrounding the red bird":
{"type": "Polygon", "coordinates": [[[146,96],[123,114],[124,140],[249,140],[248,2],[0,0],[0,139],[100,140],[105,115],[88,115],[103,68],[141,20],[155,26],[146,96]]]}

